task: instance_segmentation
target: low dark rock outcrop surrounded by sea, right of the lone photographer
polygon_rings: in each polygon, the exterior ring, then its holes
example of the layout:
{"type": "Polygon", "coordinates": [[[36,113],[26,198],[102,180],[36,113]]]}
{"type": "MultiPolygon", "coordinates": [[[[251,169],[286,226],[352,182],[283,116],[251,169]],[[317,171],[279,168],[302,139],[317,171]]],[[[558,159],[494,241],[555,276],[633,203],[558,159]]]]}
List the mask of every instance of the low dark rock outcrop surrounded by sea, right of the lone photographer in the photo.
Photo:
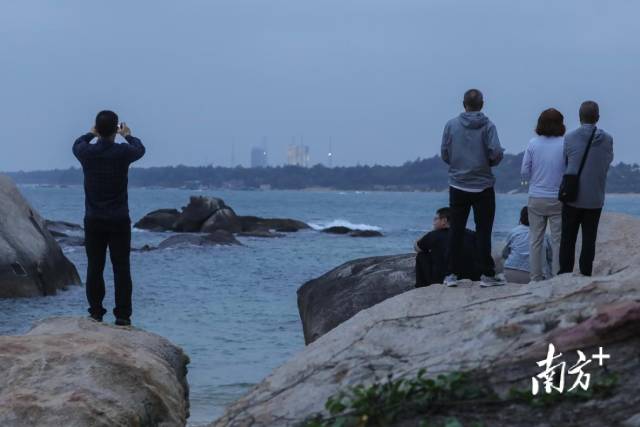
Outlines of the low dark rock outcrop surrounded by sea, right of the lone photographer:
{"type": "Polygon", "coordinates": [[[135,228],[150,231],[175,231],[182,233],[211,233],[224,230],[230,233],[256,233],[255,237],[273,237],[276,232],[295,232],[310,228],[302,221],[286,218],[260,218],[238,216],[234,210],[216,197],[192,196],[189,204],[179,212],[175,209],[159,209],[145,215],[135,223],[135,228]]]}

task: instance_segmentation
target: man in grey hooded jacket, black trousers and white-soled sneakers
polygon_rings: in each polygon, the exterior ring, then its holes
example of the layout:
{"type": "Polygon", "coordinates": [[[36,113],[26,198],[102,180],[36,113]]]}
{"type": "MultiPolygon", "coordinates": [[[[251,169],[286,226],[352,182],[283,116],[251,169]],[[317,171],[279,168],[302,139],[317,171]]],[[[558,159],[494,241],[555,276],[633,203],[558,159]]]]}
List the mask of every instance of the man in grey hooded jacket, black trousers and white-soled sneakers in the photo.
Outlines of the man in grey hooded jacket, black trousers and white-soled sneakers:
{"type": "Polygon", "coordinates": [[[480,110],[484,105],[482,92],[470,89],[462,102],[465,112],[447,122],[442,134],[441,156],[449,165],[449,231],[447,286],[456,286],[458,277],[469,260],[463,253],[464,233],[471,208],[476,224],[476,250],[482,286],[505,283],[504,276],[496,276],[491,256],[491,233],[496,210],[491,168],[502,160],[495,125],[480,110]]]}

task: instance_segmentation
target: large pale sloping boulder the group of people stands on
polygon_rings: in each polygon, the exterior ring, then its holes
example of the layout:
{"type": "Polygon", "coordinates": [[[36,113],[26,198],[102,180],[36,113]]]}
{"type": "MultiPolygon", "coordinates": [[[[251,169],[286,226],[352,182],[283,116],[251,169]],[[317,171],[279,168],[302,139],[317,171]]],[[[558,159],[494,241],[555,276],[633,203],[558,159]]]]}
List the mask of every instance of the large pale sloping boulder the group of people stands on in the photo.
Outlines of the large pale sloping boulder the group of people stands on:
{"type": "MultiPolygon", "coordinates": [[[[490,395],[471,404],[445,402],[429,415],[434,425],[444,424],[446,417],[464,425],[474,420],[516,427],[637,425],[640,220],[607,215],[602,231],[598,276],[565,274],[493,288],[434,285],[396,295],[305,347],[213,425],[298,425],[316,413],[327,415],[327,398],[348,387],[384,382],[389,375],[415,377],[421,369],[429,377],[470,371],[502,399],[498,404],[490,395]],[[584,368],[592,375],[591,397],[556,396],[545,405],[509,397],[513,388],[531,396],[532,378],[544,369],[537,362],[545,359],[549,343],[563,355],[553,364],[565,361],[566,368],[578,359],[577,350],[590,359],[600,347],[610,355],[606,370],[595,359],[584,368]],[[599,394],[594,383],[607,372],[617,376],[617,384],[609,383],[599,394]]],[[[566,393],[577,376],[565,375],[566,393]]],[[[415,426],[423,416],[406,411],[398,418],[394,425],[415,426]]]]}

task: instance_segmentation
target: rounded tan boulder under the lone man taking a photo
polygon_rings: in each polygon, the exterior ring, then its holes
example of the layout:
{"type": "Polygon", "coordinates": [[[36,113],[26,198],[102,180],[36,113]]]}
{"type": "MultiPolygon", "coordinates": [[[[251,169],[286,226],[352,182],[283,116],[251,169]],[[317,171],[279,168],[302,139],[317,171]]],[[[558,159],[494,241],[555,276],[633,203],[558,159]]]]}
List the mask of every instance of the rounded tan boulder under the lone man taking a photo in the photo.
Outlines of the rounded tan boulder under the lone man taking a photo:
{"type": "Polygon", "coordinates": [[[0,337],[0,425],[184,426],[188,363],[149,332],[46,319],[0,337]]]}

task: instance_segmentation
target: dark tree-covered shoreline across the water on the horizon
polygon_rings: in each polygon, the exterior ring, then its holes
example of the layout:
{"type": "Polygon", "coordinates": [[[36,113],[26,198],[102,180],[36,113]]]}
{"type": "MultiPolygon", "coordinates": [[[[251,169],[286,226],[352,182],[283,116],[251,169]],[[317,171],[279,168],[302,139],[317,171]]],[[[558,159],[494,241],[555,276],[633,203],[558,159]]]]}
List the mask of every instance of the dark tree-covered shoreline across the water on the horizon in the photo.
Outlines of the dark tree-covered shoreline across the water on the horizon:
{"type": "MultiPolygon", "coordinates": [[[[520,178],[523,153],[506,154],[494,168],[496,190],[524,192],[520,178]]],[[[48,171],[12,172],[8,175],[19,184],[82,184],[79,168],[48,171]]],[[[331,188],[336,190],[442,191],[447,188],[447,165],[439,156],[408,161],[402,166],[347,166],[328,168],[321,164],[310,168],[275,166],[234,168],[221,166],[163,166],[132,168],[129,182],[137,187],[212,187],[232,189],[331,188]]],[[[640,192],[640,166],[618,163],[609,169],[607,191],[640,192]]]]}

